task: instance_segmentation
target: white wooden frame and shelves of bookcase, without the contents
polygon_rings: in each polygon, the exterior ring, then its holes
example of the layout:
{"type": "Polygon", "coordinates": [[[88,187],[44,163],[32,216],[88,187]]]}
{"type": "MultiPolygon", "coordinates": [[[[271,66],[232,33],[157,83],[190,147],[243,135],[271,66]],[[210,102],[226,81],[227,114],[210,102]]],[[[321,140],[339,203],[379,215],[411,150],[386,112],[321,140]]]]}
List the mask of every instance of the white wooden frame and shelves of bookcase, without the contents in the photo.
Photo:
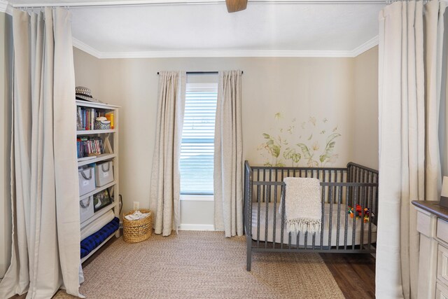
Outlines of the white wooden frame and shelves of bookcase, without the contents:
{"type": "MultiPolygon", "coordinates": [[[[113,202],[109,204],[108,206],[100,209],[99,211],[95,212],[93,216],[90,218],[85,219],[85,221],[80,223],[81,228],[87,228],[88,225],[90,225],[93,221],[95,221],[100,216],[106,214],[108,211],[113,210],[113,213],[116,217],[120,217],[120,208],[119,208],[119,174],[118,174],[118,109],[120,109],[120,106],[115,105],[109,105],[109,104],[102,104],[102,103],[94,103],[94,102],[86,102],[81,100],[76,100],[76,106],[78,107],[85,107],[85,108],[94,108],[105,112],[112,112],[113,113],[113,123],[114,128],[111,130],[78,130],[76,131],[77,137],[85,137],[85,136],[93,136],[93,137],[101,137],[103,139],[103,142],[107,140],[107,143],[109,146],[106,146],[104,144],[104,148],[106,153],[103,153],[101,155],[97,155],[94,158],[80,158],[78,159],[78,167],[89,165],[92,163],[102,162],[102,161],[113,161],[113,181],[111,183],[107,183],[104,186],[97,187],[95,190],[93,190],[90,193],[87,193],[85,195],[81,195],[79,197],[79,200],[83,200],[89,196],[92,196],[96,193],[101,192],[102,190],[106,190],[107,188],[113,188],[113,202]]],[[[115,234],[116,237],[120,237],[120,230],[117,230],[115,234]]],[[[113,235],[109,236],[102,244],[100,244],[96,249],[94,249],[92,252],[90,252],[87,256],[81,259],[81,263],[83,263],[87,258],[92,256],[92,254],[97,251],[101,246],[103,246],[113,235]]]]}

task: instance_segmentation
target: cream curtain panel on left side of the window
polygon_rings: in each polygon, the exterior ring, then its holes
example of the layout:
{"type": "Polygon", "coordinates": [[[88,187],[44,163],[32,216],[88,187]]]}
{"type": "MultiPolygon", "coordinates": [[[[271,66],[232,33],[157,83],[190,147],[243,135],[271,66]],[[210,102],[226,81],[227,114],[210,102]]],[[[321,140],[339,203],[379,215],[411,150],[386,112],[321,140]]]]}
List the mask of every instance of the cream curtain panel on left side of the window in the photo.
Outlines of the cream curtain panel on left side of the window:
{"type": "Polygon", "coordinates": [[[164,236],[171,235],[172,230],[177,232],[180,224],[179,158],[185,93],[186,72],[160,72],[150,201],[155,211],[155,233],[164,236]]]}

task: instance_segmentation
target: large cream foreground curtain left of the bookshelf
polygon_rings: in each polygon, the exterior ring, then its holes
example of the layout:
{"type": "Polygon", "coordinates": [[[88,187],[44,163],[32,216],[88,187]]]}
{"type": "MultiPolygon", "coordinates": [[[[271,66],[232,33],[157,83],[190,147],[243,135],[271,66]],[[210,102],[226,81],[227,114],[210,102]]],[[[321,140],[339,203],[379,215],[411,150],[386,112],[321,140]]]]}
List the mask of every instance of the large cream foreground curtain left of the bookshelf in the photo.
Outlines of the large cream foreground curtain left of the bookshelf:
{"type": "Polygon", "coordinates": [[[0,298],[78,296],[80,223],[71,14],[13,11],[13,246],[0,298]],[[75,183],[73,183],[75,182],[75,183]]]}

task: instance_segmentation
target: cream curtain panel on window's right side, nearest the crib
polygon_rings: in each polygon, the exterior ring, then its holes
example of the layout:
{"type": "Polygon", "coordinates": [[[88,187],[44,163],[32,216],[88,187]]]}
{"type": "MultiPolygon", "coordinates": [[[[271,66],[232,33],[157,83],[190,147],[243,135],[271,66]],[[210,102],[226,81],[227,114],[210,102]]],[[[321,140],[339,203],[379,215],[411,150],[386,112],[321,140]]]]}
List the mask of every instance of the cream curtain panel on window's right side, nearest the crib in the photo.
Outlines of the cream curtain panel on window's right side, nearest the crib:
{"type": "Polygon", "coordinates": [[[215,228],[243,234],[241,71],[220,71],[214,153],[215,228]]]}

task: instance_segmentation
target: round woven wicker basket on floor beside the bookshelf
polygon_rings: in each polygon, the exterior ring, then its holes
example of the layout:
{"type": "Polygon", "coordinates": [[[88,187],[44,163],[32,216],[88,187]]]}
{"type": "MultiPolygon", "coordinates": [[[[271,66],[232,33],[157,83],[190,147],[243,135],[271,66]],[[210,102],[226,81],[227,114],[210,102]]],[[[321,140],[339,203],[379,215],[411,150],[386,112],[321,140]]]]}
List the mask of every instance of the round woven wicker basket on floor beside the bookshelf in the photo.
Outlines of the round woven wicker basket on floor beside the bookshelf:
{"type": "Polygon", "coordinates": [[[123,215],[123,239],[127,243],[138,243],[153,235],[153,212],[149,209],[139,209],[141,213],[151,213],[148,217],[140,220],[129,221],[125,216],[133,214],[130,211],[123,215]]]}

